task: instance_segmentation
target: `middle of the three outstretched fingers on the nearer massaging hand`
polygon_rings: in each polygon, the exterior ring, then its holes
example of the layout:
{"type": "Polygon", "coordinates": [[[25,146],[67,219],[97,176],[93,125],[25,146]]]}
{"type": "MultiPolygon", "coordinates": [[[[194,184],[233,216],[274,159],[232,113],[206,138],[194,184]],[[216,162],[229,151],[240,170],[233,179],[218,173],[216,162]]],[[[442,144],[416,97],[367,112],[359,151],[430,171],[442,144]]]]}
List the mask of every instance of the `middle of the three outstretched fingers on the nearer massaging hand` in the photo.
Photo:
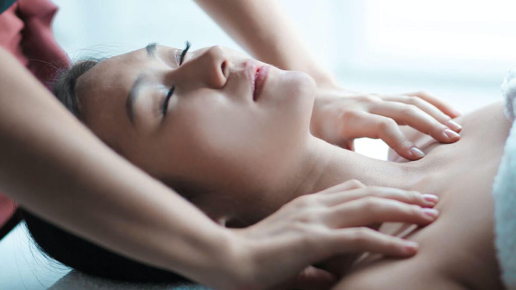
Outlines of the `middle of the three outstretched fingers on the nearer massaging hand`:
{"type": "Polygon", "coordinates": [[[363,227],[376,222],[429,224],[439,211],[392,199],[365,197],[332,207],[324,219],[331,228],[363,227]],[[342,218],[345,217],[345,218],[342,218]]]}

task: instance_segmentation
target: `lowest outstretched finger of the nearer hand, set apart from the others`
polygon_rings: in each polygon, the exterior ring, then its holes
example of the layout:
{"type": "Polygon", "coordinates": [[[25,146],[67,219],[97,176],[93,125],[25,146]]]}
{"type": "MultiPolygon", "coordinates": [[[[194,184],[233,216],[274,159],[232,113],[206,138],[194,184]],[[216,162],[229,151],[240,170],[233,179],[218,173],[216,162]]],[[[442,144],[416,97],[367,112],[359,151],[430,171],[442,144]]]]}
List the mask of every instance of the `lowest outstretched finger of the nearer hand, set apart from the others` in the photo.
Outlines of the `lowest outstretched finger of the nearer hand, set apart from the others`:
{"type": "Polygon", "coordinates": [[[357,252],[373,252],[390,256],[407,257],[418,250],[417,243],[378,231],[360,227],[334,230],[329,235],[329,254],[335,254],[340,249],[342,254],[357,252]]]}

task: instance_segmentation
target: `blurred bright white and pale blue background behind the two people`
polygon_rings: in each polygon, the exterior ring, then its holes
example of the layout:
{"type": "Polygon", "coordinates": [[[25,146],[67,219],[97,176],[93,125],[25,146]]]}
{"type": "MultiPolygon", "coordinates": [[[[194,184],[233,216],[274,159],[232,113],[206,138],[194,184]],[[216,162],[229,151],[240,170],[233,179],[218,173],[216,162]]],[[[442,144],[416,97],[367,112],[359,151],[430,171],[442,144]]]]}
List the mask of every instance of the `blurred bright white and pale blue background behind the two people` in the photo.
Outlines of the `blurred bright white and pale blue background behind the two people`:
{"type": "MultiPolygon", "coordinates": [[[[115,55],[150,42],[182,47],[190,40],[193,49],[215,44],[240,49],[188,0],[54,2],[60,6],[55,35],[72,59],[115,55]]],[[[467,112],[500,100],[499,85],[516,64],[514,1],[282,3],[321,63],[352,90],[425,90],[467,112]]],[[[360,139],[356,147],[368,156],[386,156],[381,141],[360,139]]],[[[0,285],[45,289],[60,274],[38,258],[35,263],[25,244],[19,229],[0,243],[0,256],[12,258],[0,263],[0,285]]]]}

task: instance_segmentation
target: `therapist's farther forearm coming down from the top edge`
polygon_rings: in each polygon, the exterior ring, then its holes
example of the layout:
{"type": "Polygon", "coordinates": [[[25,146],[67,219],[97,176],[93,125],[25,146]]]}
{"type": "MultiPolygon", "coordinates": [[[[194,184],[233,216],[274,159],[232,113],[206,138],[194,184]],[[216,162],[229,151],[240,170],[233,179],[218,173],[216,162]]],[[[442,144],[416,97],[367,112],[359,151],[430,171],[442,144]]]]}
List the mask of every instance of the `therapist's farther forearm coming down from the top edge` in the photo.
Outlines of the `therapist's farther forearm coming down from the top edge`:
{"type": "Polygon", "coordinates": [[[306,72],[318,84],[337,84],[277,0],[196,2],[256,59],[282,69],[306,72]]]}

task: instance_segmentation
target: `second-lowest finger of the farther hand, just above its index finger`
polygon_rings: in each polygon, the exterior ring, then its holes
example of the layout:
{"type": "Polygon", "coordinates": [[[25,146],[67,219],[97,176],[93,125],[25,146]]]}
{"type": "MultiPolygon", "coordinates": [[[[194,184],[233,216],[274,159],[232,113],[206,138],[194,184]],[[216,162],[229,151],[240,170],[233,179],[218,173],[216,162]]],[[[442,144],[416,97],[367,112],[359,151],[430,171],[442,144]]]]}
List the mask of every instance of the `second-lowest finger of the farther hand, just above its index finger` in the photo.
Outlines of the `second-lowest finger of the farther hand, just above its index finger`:
{"type": "Polygon", "coordinates": [[[460,139],[457,132],[451,131],[450,128],[439,123],[415,105],[382,102],[370,108],[369,111],[373,114],[392,118],[400,124],[409,125],[443,143],[452,143],[460,139]]]}

